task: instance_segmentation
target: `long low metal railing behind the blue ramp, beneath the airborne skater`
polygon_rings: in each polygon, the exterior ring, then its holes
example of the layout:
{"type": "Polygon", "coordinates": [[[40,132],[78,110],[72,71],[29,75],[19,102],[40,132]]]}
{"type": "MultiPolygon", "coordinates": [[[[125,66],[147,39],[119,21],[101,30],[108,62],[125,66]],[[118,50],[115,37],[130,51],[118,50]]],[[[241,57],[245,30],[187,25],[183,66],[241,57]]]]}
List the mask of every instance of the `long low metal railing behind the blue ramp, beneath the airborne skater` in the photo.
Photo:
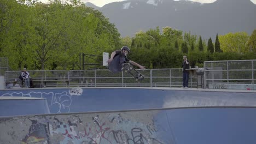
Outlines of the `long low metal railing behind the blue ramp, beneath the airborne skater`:
{"type": "MultiPolygon", "coordinates": [[[[135,81],[129,73],[109,70],[28,70],[35,87],[181,87],[182,69],[138,70],[145,76],[135,81]]],[[[21,71],[5,71],[5,83],[21,85],[21,71]]],[[[8,84],[7,84],[8,85],[8,84]]],[[[197,86],[197,76],[191,75],[189,87],[197,86]]]]}

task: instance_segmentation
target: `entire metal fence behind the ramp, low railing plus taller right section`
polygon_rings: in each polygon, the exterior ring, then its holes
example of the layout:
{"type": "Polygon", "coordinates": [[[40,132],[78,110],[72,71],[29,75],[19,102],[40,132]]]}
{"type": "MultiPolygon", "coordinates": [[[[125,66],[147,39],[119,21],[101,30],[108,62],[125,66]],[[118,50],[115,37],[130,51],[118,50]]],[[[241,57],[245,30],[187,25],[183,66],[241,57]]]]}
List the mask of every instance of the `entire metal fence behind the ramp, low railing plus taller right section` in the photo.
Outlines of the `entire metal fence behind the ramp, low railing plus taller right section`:
{"type": "MultiPolygon", "coordinates": [[[[113,74],[109,70],[31,70],[29,73],[35,87],[182,86],[182,69],[138,71],[145,76],[145,79],[139,82],[129,73],[113,74]]],[[[5,84],[22,86],[22,81],[19,80],[20,74],[21,71],[5,71],[5,84]]],[[[202,88],[249,90],[256,89],[255,80],[256,60],[206,61],[204,68],[190,70],[189,87],[201,85],[202,88]]]]}

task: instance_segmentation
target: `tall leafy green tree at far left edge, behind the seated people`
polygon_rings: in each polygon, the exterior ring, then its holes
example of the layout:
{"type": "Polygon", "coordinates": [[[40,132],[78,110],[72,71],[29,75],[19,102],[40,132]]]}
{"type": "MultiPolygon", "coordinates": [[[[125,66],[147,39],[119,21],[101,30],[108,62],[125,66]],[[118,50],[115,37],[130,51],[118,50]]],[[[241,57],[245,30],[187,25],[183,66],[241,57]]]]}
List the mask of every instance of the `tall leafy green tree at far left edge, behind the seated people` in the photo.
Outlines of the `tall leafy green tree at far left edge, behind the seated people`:
{"type": "Polygon", "coordinates": [[[33,11],[25,1],[1,1],[0,5],[0,56],[8,57],[9,66],[21,69],[33,63],[31,39],[33,11]]]}

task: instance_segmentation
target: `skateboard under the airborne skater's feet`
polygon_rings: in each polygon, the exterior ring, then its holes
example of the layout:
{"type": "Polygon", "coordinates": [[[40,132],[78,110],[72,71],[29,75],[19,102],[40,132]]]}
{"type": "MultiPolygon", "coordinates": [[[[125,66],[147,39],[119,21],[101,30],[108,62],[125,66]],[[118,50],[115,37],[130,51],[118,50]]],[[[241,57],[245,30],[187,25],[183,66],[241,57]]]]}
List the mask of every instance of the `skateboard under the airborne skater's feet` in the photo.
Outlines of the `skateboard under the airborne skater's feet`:
{"type": "Polygon", "coordinates": [[[122,70],[125,71],[125,73],[130,73],[136,81],[141,81],[144,79],[144,75],[133,68],[130,63],[124,63],[122,70]]]}

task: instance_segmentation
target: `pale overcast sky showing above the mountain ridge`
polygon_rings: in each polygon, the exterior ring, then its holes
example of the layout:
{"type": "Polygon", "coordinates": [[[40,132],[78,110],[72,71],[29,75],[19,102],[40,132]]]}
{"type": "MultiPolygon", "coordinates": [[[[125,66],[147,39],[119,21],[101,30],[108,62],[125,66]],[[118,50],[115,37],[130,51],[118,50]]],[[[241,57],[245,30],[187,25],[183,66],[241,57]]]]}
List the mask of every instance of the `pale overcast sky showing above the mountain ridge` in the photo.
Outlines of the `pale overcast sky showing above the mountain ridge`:
{"type": "MultiPolygon", "coordinates": [[[[48,2],[48,0],[39,0],[43,3],[45,2],[48,2]]],[[[103,5],[105,4],[108,4],[108,3],[112,3],[112,2],[121,2],[121,1],[125,1],[125,0],[80,0],[84,3],[86,2],[91,2],[95,5],[97,5],[98,7],[102,7],[103,5]]],[[[174,0],[174,1],[179,1],[179,0],[174,0]]],[[[194,2],[200,2],[200,3],[212,3],[212,2],[215,2],[216,0],[189,0],[189,1],[194,1],[194,2]]],[[[243,1],[243,0],[241,0],[243,1]]],[[[256,4],[256,0],[250,0],[252,1],[254,4],[256,4]]]]}

